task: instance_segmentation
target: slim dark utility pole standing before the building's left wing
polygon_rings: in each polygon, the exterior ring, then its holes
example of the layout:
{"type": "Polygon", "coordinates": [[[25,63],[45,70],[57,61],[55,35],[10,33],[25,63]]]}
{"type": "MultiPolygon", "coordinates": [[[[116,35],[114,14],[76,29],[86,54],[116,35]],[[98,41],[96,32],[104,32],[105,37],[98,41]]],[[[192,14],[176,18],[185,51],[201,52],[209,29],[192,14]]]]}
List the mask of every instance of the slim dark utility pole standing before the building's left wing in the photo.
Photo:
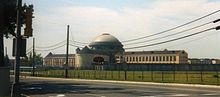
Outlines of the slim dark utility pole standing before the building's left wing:
{"type": "Polygon", "coordinates": [[[66,43],[66,64],[65,64],[65,77],[68,77],[68,57],[69,57],[69,25],[67,25],[67,43],[66,43]]]}

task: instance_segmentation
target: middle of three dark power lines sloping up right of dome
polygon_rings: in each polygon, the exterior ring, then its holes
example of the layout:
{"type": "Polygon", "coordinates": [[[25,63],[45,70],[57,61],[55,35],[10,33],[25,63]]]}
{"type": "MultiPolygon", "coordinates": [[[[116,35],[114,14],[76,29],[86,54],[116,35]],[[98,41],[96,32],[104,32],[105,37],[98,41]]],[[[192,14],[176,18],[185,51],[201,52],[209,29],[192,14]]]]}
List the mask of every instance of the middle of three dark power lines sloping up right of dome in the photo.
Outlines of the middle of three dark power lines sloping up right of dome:
{"type": "MultiPolygon", "coordinates": [[[[217,19],[217,20],[219,20],[219,19],[217,19]]],[[[215,20],[215,21],[216,21],[216,20],[215,20]]],[[[158,37],[158,38],[149,39],[149,40],[145,40],[145,41],[134,42],[134,43],[128,43],[128,44],[125,44],[125,45],[140,44],[140,43],[144,43],[144,42],[150,42],[150,41],[154,41],[154,40],[158,40],[158,39],[162,39],[162,38],[167,38],[167,37],[174,36],[174,35],[178,35],[178,34],[181,34],[181,33],[187,32],[187,31],[191,31],[191,30],[193,30],[193,29],[196,29],[196,28],[199,28],[199,27],[208,25],[208,24],[210,24],[210,23],[214,23],[214,21],[207,22],[207,23],[201,24],[201,25],[199,25],[199,26],[195,26],[195,27],[192,27],[192,28],[183,30],[183,31],[179,31],[179,32],[173,33],[173,34],[169,34],[169,35],[165,35],[165,36],[161,36],[161,37],[158,37]]]]}

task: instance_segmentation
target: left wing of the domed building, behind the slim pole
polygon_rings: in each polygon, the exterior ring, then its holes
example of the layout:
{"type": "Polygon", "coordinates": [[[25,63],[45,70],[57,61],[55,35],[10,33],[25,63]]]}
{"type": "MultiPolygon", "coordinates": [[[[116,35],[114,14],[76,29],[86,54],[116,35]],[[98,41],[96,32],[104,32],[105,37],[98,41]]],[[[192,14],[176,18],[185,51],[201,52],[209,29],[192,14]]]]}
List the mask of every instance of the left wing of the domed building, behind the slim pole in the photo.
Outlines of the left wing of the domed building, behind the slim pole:
{"type": "MultiPolygon", "coordinates": [[[[49,53],[43,59],[43,66],[51,66],[51,67],[63,67],[66,64],[66,54],[53,54],[49,53]]],[[[68,57],[68,66],[75,66],[75,54],[69,54],[68,57]]]]}

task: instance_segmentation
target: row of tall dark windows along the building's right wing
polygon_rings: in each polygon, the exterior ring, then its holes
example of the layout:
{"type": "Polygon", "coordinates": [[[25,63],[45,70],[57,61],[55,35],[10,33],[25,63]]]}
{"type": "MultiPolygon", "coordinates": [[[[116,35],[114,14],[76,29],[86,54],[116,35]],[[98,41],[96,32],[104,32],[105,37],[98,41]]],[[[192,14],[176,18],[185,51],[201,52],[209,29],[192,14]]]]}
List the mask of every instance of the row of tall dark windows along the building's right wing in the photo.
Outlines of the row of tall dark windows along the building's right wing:
{"type": "Polygon", "coordinates": [[[130,56],[125,57],[127,62],[144,62],[144,61],[176,61],[176,56],[130,56]]]}

